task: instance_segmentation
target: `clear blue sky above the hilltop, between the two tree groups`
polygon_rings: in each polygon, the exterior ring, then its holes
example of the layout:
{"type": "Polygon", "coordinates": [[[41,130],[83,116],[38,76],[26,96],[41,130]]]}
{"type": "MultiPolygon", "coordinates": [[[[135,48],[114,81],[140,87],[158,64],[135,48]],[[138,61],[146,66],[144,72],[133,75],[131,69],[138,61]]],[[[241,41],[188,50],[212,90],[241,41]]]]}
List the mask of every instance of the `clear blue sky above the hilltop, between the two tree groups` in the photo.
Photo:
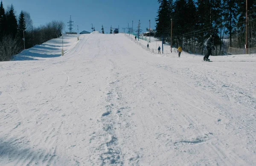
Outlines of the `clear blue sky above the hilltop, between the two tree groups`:
{"type": "Polygon", "coordinates": [[[101,31],[103,24],[105,33],[110,32],[110,27],[122,28],[137,27],[140,20],[143,32],[149,28],[155,29],[155,18],[159,4],[157,0],[2,0],[3,6],[13,4],[16,15],[20,11],[27,11],[34,23],[34,26],[44,25],[52,20],[63,21],[66,25],[72,17],[75,23],[73,28],[79,32],[85,30],[91,32],[91,23],[96,30],[101,31]],[[129,3],[128,3],[129,2],[129,3]]]}

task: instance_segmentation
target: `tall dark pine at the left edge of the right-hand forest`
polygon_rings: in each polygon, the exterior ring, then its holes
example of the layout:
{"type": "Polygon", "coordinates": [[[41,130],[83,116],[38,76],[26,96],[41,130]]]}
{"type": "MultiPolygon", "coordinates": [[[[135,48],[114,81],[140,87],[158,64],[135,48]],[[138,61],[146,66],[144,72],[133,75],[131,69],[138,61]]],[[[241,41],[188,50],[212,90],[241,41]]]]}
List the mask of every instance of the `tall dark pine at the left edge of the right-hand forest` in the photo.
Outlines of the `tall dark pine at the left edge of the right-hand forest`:
{"type": "Polygon", "coordinates": [[[160,3],[157,11],[156,30],[157,37],[168,37],[171,31],[171,2],[169,0],[158,0],[160,3]]]}

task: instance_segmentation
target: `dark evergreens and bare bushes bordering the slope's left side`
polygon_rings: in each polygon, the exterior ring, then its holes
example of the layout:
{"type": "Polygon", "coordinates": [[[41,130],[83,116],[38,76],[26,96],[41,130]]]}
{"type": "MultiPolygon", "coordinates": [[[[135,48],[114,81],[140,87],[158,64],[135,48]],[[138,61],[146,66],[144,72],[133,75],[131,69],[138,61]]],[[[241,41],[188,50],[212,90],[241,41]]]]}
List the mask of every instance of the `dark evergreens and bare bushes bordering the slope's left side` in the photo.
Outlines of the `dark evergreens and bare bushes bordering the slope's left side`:
{"type": "Polygon", "coordinates": [[[11,5],[5,9],[1,1],[0,61],[11,60],[13,55],[24,49],[24,45],[27,49],[60,37],[63,28],[64,23],[55,20],[35,28],[28,12],[21,11],[19,17],[16,17],[14,6],[11,5]]]}

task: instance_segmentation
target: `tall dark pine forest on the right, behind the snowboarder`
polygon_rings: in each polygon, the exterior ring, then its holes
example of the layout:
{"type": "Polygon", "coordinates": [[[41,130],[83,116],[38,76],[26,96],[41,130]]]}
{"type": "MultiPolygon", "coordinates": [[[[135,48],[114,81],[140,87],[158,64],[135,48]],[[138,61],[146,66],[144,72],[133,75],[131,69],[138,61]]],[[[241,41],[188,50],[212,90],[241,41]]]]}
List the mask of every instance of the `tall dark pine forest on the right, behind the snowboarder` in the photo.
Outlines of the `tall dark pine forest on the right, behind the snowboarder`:
{"type": "MultiPolygon", "coordinates": [[[[245,0],[158,0],[156,36],[183,50],[203,54],[204,42],[215,35],[215,54],[227,47],[244,48],[246,33],[245,0]],[[224,37],[228,38],[224,45],[224,37]],[[224,47],[226,46],[226,47],[224,47]]],[[[256,47],[256,0],[247,0],[248,47],[256,47]]]]}

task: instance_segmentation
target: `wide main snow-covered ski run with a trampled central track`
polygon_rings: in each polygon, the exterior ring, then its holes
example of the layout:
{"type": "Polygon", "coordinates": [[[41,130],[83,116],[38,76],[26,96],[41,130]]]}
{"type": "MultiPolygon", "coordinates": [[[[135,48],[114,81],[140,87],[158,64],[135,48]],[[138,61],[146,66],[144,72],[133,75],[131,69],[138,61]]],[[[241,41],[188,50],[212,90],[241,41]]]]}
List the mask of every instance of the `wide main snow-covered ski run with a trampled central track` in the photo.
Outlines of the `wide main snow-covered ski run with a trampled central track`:
{"type": "Polygon", "coordinates": [[[124,34],[0,62],[1,166],[256,165],[256,55],[146,52],[124,34]]]}

